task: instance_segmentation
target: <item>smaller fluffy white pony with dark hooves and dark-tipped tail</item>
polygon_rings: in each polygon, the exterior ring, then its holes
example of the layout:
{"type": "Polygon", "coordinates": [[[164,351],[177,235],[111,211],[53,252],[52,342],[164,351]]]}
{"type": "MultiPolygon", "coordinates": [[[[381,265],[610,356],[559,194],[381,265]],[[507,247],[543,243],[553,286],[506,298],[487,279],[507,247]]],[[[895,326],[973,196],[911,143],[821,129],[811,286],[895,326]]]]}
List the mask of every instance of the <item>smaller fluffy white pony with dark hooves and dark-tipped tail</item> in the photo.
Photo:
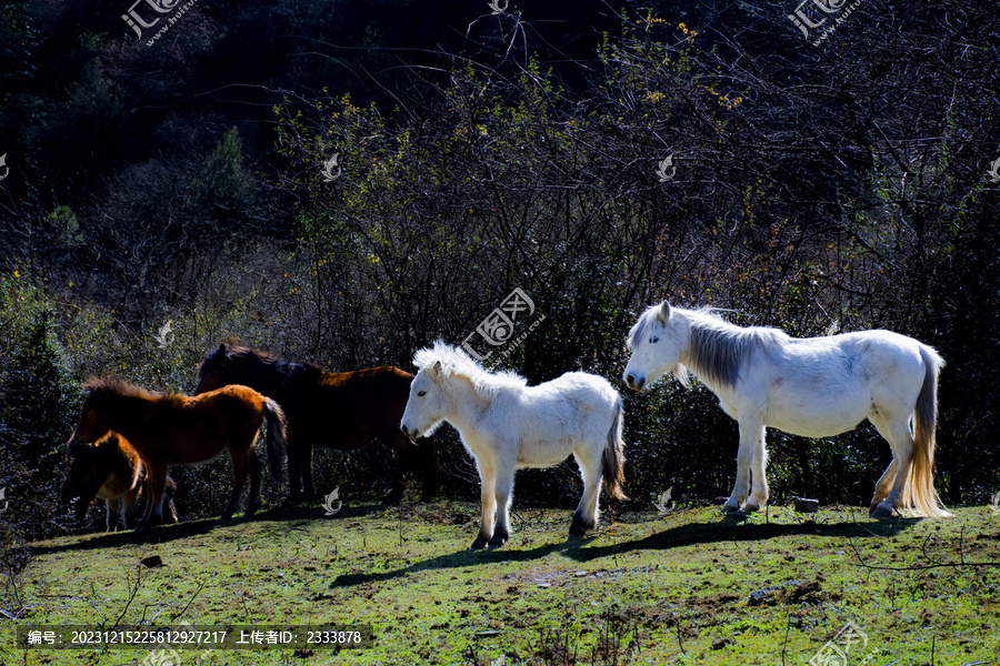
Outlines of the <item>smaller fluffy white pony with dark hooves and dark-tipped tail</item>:
{"type": "Polygon", "coordinates": [[[626,498],[622,402],[603,377],[570,372],[528,386],[524,377],[491,374],[442,342],[417,352],[413,363],[420,372],[410,385],[400,428],[411,440],[430,435],[442,421],[459,431],[482,480],[482,523],[473,548],[500,546],[510,536],[518,467],[551,467],[573,454],[584,487],[571,536],[597,526],[602,477],[611,495],[626,498]]]}

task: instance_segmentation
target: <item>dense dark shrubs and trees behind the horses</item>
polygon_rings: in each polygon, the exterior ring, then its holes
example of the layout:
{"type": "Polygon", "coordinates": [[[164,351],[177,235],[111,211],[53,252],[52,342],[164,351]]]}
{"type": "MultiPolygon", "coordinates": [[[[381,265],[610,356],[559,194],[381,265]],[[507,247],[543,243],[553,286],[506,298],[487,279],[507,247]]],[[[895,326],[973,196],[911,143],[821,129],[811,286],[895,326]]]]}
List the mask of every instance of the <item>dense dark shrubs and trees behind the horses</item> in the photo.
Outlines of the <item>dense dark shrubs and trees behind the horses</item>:
{"type": "MultiPolygon", "coordinates": [[[[939,490],[1000,490],[992,2],[866,0],[818,46],[793,2],[203,0],[151,47],[127,4],[0,9],[4,538],[51,528],[88,374],[190,391],[226,339],[409,369],[516,286],[546,320],[493,360],[531,382],[617,382],[662,297],[918,337],[948,361],[939,490]]],[[[707,390],[627,401],[636,501],[728,493],[707,390]]],[[[869,425],[769,438],[777,501],[867,503],[890,455],[869,425]]],[[[474,488],[442,448],[446,491],[474,488]]],[[[383,488],[380,455],[323,455],[320,487],[383,488]]],[[[182,513],[217,513],[224,465],[176,474],[182,513]]],[[[573,477],[526,473],[520,501],[573,477]]]]}

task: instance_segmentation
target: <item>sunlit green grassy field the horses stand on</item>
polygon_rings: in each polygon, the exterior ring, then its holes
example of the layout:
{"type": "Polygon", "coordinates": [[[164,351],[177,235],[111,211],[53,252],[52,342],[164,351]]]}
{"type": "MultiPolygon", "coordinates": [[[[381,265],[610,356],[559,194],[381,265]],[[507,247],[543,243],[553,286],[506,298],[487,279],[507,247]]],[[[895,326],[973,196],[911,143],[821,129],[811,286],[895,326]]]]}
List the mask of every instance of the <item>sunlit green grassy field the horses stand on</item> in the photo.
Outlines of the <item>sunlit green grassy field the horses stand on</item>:
{"type": "Polygon", "coordinates": [[[770,507],[520,509],[468,549],[478,506],[272,509],[148,536],[32,544],[0,662],[163,664],[150,649],[16,649],[17,625],[370,625],[363,649],[184,649],[187,664],[1000,664],[1000,515],[870,521],[770,507]],[[159,566],[140,561],[159,557],[159,566]],[[849,624],[853,623],[853,624],[849,624]],[[847,630],[842,630],[848,627],[847,630]]]}

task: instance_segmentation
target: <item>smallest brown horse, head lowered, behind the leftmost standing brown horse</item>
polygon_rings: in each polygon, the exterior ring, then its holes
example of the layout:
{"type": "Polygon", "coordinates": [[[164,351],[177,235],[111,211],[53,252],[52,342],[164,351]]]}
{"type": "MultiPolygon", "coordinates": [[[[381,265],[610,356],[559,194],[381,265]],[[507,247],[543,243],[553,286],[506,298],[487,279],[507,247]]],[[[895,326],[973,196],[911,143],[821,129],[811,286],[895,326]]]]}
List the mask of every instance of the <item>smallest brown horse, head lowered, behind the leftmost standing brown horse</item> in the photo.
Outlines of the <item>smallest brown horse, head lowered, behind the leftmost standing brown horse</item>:
{"type": "MultiPolygon", "coordinates": [[[[146,465],[139,453],[118,433],[108,433],[96,444],[70,442],[66,450],[66,481],[60,504],[70,509],[77,523],[82,523],[87,507],[94,497],[104,501],[107,531],[121,525],[129,528],[136,515],[139,495],[149,497],[146,488],[146,465]]],[[[177,484],[167,477],[167,504],[171,519],[177,523],[173,491],[177,484]]]]}

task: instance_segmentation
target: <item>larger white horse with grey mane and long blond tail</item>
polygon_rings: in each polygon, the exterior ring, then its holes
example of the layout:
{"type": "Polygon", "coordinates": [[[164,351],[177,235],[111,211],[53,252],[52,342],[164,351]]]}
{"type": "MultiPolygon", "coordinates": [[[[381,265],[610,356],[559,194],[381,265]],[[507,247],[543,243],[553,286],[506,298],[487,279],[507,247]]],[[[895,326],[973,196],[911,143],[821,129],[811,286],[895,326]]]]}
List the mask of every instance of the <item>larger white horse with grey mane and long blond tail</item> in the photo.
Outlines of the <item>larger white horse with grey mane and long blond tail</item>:
{"type": "Polygon", "coordinates": [[[640,391],[670,371],[687,386],[687,366],[739,423],[737,480],[723,511],[751,512],[767,503],[767,426],[827,437],[868,418],[892,447],[869,513],[886,517],[893,508],[916,508],[928,517],[952,515],[933,485],[938,372],[944,361],[928,345],[889,331],[793,339],[663,301],[632,326],[629,347],[629,387],[640,391]]]}

